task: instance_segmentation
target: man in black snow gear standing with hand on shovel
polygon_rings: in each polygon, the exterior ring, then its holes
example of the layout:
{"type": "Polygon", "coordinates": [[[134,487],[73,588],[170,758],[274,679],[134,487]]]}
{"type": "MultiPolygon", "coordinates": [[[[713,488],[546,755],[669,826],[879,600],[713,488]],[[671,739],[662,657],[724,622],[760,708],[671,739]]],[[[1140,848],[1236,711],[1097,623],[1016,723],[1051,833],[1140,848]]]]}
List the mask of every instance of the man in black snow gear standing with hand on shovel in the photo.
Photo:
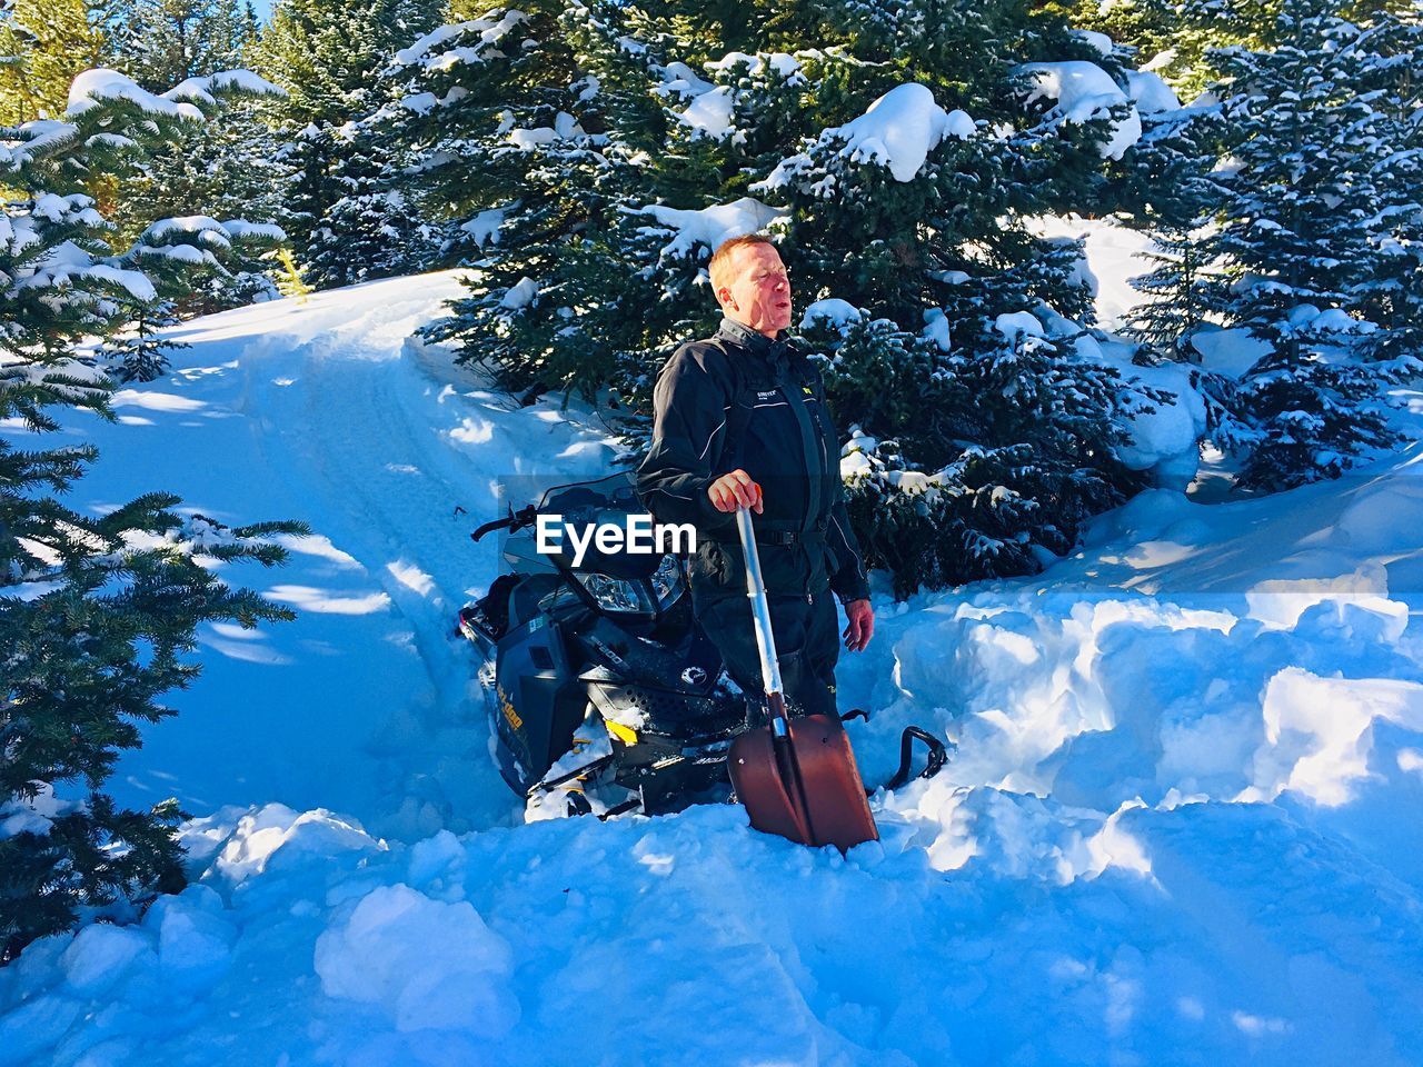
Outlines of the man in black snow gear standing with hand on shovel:
{"type": "MultiPolygon", "coordinates": [[[[736,508],[756,515],[787,706],[835,714],[835,592],[845,647],[874,635],[869,585],[845,514],[840,437],[817,367],[790,344],[791,286],[776,246],[747,235],[709,265],[721,326],[673,353],[653,393],[638,491],[657,522],[697,529],[692,602],[736,683],[763,693],[736,508]]],[[[753,704],[753,724],[760,720],[753,704]]]]}

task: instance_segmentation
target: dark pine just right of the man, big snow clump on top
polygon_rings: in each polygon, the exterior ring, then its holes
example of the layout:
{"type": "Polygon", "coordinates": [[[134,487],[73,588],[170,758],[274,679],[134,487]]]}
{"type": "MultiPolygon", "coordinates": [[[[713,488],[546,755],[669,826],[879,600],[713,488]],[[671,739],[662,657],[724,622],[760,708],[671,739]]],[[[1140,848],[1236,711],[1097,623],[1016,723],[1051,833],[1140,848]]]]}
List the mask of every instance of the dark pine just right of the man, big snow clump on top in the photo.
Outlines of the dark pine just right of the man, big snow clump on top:
{"type": "Polygon", "coordinates": [[[1022,222],[1064,195],[1052,176],[1072,168],[1053,156],[1070,151],[1052,120],[998,138],[909,83],[753,186],[791,209],[785,248],[811,292],[861,294],[851,324],[832,306],[835,330],[808,337],[867,438],[851,515],[899,595],[1035,570],[1134,482],[1111,457],[1117,373],[1080,356],[1080,249],[1022,222]],[[887,151],[889,127],[918,141],[887,151]]]}

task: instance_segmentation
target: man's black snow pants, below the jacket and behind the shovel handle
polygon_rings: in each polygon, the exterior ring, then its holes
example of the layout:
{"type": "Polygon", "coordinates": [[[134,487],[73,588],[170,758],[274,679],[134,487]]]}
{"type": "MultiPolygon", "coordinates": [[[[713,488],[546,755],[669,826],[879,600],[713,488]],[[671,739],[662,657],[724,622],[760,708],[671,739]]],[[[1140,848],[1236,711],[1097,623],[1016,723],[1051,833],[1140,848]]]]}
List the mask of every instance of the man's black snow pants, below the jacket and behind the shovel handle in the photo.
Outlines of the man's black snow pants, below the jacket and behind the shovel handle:
{"type": "MultiPolygon", "coordinates": [[[[781,667],[790,716],[835,710],[835,662],[840,659],[840,619],[828,589],[805,596],[770,596],[771,633],[781,667]]],[[[766,681],[756,647],[751,602],[747,596],[694,598],[697,623],[721,653],[731,680],[746,693],[747,726],[764,726],[766,681]]]]}

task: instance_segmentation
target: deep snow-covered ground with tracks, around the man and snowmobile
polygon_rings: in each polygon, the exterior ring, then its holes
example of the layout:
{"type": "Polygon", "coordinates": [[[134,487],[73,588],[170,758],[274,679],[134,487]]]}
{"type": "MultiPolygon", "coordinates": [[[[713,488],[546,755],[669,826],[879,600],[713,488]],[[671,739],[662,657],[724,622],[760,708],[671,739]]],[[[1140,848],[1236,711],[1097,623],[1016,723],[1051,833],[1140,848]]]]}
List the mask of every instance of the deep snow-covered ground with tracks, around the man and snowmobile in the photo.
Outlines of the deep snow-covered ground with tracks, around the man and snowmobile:
{"type": "Polygon", "coordinates": [[[83,504],[313,535],[233,572],[300,619],[206,632],[115,775],[199,815],[199,876],[0,970],[0,1063],[1423,1063],[1423,450],[878,596],[840,673],[865,778],[908,723],[958,753],[848,858],[731,807],[525,827],[450,636],[495,573],[467,534],[498,475],[612,448],[411,343],[455,292],[198,320],[127,424],[74,415],[83,504]]]}

